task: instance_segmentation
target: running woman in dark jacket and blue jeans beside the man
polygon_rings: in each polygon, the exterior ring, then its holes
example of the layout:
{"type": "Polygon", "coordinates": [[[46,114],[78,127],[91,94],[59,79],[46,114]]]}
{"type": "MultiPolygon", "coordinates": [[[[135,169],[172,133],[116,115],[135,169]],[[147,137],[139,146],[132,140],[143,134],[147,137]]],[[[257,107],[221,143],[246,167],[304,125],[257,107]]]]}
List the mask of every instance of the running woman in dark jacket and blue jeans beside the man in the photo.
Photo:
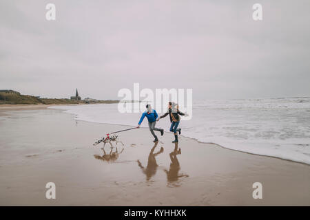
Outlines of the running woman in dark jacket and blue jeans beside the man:
{"type": "Polygon", "coordinates": [[[178,124],[180,124],[180,115],[185,115],[185,113],[178,111],[177,103],[169,102],[168,111],[164,115],[161,115],[161,117],[159,118],[165,118],[167,115],[169,115],[170,122],[171,122],[170,131],[174,132],[174,137],[175,137],[172,143],[178,142],[178,134],[180,135],[180,130],[181,130],[181,129],[178,129],[178,124]],[[178,133],[176,133],[177,131],[178,133]]]}

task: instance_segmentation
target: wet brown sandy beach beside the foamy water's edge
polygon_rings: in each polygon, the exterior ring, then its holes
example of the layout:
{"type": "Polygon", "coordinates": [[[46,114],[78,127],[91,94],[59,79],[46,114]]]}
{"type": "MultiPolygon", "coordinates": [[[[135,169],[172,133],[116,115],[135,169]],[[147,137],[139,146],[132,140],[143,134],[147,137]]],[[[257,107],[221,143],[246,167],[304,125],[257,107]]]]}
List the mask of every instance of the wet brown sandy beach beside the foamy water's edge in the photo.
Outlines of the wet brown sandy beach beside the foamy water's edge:
{"type": "Polygon", "coordinates": [[[1,206],[310,206],[307,164],[187,137],[176,146],[172,133],[155,146],[148,129],[119,133],[125,145],[104,155],[93,142],[128,126],[45,108],[0,116],[1,206]],[[50,181],[56,199],[45,199],[50,181]],[[252,197],[257,181],[262,199],[252,197]]]}

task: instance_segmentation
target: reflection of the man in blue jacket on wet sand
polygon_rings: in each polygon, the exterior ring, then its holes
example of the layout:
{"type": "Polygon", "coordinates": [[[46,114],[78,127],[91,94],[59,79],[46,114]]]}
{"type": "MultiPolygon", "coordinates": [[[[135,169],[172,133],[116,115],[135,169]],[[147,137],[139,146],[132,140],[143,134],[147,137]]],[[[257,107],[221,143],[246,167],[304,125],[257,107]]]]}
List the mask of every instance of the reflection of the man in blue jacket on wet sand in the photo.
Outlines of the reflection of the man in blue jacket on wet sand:
{"type": "Polygon", "coordinates": [[[158,164],[156,162],[156,158],[155,157],[158,154],[163,153],[163,147],[161,147],[161,150],[159,150],[157,153],[154,153],[154,150],[155,150],[157,144],[158,144],[158,142],[155,142],[153,148],[149,152],[149,158],[147,160],[147,166],[146,167],[142,166],[141,162],[139,160],[137,160],[138,166],[141,168],[143,173],[146,175],[147,181],[149,179],[151,179],[151,177],[156,174],[156,170],[157,170],[158,164]]]}

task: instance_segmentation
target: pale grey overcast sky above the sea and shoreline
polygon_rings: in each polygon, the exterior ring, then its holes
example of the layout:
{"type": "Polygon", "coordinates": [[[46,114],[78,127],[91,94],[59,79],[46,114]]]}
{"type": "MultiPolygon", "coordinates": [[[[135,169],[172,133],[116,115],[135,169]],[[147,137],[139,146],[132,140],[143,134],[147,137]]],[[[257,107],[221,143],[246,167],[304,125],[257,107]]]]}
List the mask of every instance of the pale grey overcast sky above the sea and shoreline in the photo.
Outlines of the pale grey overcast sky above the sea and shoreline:
{"type": "Polygon", "coordinates": [[[0,89],[117,98],[310,96],[310,1],[0,1],[0,89]],[[234,2],[234,3],[233,3],[234,2]],[[45,5],[56,5],[56,21],[45,5]],[[252,19],[261,3],[263,20],[252,19]]]}

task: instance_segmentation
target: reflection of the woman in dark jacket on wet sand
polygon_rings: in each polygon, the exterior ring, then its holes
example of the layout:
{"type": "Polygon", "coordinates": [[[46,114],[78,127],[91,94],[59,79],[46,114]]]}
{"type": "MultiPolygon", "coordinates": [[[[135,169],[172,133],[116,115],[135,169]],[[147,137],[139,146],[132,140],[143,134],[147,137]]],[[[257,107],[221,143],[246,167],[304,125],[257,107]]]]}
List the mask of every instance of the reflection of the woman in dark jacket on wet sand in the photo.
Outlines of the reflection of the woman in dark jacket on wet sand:
{"type": "Polygon", "coordinates": [[[174,184],[174,182],[178,181],[180,177],[189,177],[187,174],[178,173],[180,170],[180,163],[178,162],[178,157],[176,155],[181,154],[180,148],[178,148],[178,142],[175,143],[174,151],[169,153],[170,156],[170,167],[169,170],[165,169],[165,173],[167,174],[168,184],[174,184]]]}

